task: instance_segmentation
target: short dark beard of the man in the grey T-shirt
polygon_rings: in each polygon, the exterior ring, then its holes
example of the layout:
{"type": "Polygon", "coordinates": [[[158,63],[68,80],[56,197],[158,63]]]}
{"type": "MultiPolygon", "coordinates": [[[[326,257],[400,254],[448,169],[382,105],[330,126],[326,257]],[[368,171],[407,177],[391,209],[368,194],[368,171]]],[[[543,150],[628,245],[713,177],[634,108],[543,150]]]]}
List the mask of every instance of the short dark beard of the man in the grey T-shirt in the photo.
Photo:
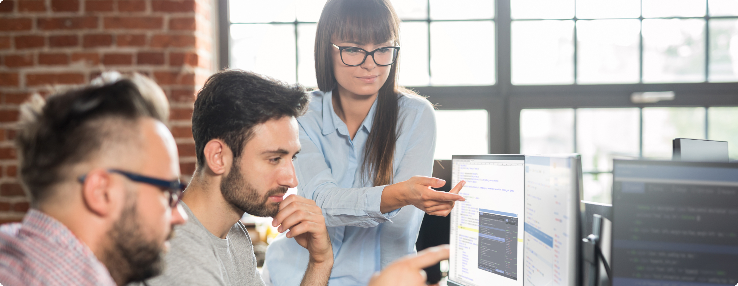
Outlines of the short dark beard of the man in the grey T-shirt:
{"type": "Polygon", "coordinates": [[[284,186],[270,189],[263,197],[241,175],[241,168],[233,164],[228,175],[221,181],[223,198],[235,209],[257,217],[275,217],[279,212],[279,203],[269,203],[272,195],[282,195],[287,192],[284,186]]]}

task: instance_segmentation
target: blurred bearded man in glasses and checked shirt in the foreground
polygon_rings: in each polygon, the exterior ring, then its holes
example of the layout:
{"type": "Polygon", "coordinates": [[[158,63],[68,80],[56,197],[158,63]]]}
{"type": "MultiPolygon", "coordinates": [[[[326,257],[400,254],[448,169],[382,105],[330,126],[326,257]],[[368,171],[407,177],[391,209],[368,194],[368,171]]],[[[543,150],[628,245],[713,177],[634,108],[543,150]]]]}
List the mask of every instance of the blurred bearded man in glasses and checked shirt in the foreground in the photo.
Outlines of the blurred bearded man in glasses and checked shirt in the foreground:
{"type": "Polygon", "coordinates": [[[182,184],[168,106],[150,80],[116,80],[21,108],[32,209],[0,226],[0,284],[125,285],[162,271],[182,184]],[[156,90],[139,90],[139,88],[156,90]]]}

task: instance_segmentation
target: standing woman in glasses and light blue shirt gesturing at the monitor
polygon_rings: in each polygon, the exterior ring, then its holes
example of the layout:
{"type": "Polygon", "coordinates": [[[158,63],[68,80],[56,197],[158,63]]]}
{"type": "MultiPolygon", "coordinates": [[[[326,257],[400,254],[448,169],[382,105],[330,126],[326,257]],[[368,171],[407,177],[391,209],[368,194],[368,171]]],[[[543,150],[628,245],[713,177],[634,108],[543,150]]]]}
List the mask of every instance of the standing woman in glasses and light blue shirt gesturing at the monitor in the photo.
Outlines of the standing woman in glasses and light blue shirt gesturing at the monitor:
{"type": "MultiPolygon", "coordinates": [[[[463,200],[456,195],[463,181],[451,193],[430,189],[445,184],[426,177],[435,115],[428,100],[397,85],[399,23],[387,0],[329,0],[317,24],[320,91],[297,119],[303,149],[295,170],[299,195],[325,214],[335,255],[331,286],[366,285],[375,271],[415,252],[423,212],[445,216],[463,200]]],[[[266,251],[263,277],[299,285],[304,249],[280,234],[266,251]]]]}

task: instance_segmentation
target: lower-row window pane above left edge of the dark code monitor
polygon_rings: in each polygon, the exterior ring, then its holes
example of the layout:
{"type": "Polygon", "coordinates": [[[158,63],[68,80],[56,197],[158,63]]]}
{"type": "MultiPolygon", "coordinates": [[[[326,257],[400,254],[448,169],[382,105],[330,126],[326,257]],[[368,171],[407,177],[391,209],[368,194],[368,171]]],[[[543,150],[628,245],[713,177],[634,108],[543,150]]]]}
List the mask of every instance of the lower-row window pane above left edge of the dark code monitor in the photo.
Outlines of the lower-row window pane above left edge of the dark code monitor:
{"type": "Polygon", "coordinates": [[[582,170],[613,170],[613,158],[638,157],[638,108],[576,110],[576,151],[582,170]]]}

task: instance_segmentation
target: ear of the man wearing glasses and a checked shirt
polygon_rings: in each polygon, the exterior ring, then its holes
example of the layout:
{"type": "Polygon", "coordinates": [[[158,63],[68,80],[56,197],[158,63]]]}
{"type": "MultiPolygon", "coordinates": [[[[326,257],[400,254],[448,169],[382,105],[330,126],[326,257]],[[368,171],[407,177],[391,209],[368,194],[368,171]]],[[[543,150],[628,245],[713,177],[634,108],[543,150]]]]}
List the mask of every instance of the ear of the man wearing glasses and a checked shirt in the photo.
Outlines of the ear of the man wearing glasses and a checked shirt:
{"type": "Polygon", "coordinates": [[[112,212],[111,176],[104,169],[87,173],[82,184],[82,200],[90,212],[106,217],[112,212]]]}

